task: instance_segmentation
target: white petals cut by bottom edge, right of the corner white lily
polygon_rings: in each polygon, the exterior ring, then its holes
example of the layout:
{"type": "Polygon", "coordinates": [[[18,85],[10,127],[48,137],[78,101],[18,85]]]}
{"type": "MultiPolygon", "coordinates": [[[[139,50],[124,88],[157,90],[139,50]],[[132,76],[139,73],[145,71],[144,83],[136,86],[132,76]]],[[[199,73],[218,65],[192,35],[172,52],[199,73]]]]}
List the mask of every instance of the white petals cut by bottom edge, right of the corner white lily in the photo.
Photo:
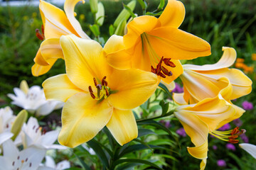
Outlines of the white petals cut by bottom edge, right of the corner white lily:
{"type": "Polygon", "coordinates": [[[68,162],[67,160],[55,164],[52,157],[46,156],[46,163],[44,164],[44,166],[39,166],[38,170],[63,170],[69,168],[70,162],[68,162]]]}

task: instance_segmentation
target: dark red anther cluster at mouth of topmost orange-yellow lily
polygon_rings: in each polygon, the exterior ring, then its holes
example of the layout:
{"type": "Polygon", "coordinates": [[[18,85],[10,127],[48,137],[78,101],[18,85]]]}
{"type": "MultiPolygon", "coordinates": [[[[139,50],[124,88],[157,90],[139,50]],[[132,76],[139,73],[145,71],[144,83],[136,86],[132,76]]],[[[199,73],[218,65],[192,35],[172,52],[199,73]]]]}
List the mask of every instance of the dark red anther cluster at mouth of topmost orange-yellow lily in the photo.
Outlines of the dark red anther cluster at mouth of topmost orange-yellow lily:
{"type": "Polygon", "coordinates": [[[153,66],[151,66],[151,72],[163,78],[166,78],[166,76],[172,76],[172,72],[166,69],[166,67],[162,66],[162,63],[164,62],[166,66],[176,67],[174,62],[171,62],[170,60],[171,58],[164,58],[164,56],[161,57],[159,64],[156,65],[156,69],[153,66]]]}

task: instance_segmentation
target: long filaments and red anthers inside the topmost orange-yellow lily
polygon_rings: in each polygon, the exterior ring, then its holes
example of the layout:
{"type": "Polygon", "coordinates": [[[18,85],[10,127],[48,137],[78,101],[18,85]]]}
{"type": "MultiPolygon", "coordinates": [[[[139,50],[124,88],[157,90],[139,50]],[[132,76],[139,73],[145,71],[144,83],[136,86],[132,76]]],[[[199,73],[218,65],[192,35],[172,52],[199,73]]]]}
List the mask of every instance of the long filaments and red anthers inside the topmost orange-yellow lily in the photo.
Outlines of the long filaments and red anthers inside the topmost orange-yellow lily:
{"type": "Polygon", "coordinates": [[[154,74],[166,78],[166,76],[170,77],[172,76],[172,72],[169,71],[167,66],[169,67],[176,67],[174,62],[171,62],[171,58],[164,58],[159,57],[159,55],[156,54],[154,47],[151,46],[150,41],[149,41],[149,36],[147,33],[142,33],[141,38],[142,38],[142,52],[143,55],[145,55],[145,52],[149,55],[149,60],[151,63],[151,72],[154,74]],[[166,67],[162,66],[162,62],[166,65],[166,67]],[[156,65],[157,64],[157,65],[156,65]],[[156,65],[156,68],[154,68],[154,65],[156,65]]]}

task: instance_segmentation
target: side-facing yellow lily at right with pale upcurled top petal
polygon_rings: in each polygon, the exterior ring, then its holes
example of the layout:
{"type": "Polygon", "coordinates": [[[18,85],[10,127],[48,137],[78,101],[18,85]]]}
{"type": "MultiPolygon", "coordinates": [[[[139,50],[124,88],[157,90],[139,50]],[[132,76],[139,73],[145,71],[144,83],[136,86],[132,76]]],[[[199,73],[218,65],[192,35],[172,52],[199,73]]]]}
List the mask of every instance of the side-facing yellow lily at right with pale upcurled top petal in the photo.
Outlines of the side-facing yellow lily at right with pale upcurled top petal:
{"type": "Polygon", "coordinates": [[[227,77],[233,87],[233,93],[228,99],[233,100],[250,94],[252,81],[239,69],[228,69],[235,62],[235,49],[223,47],[223,51],[223,56],[215,64],[183,65],[184,72],[180,77],[184,93],[174,94],[177,103],[182,104],[183,100],[186,103],[198,103],[204,98],[217,96],[219,91],[228,84],[228,81],[220,81],[221,77],[227,77]]]}

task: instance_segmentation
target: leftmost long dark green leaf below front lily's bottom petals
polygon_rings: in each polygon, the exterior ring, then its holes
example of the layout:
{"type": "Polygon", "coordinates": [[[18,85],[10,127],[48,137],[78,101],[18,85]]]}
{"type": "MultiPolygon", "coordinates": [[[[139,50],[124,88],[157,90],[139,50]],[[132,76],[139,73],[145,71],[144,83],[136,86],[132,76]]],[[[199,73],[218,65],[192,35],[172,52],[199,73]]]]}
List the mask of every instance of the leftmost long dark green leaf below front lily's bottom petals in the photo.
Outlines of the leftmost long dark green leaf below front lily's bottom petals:
{"type": "Polygon", "coordinates": [[[92,149],[95,151],[95,153],[97,154],[97,156],[100,159],[100,162],[102,162],[102,164],[104,166],[106,166],[107,168],[110,167],[110,164],[108,162],[107,159],[107,155],[105,154],[104,150],[102,149],[102,146],[99,145],[99,142],[97,142],[96,140],[90,140],[89,142],[87,142],[87,145],[89,145],[90,147],[92,147],[92,149]]]}

